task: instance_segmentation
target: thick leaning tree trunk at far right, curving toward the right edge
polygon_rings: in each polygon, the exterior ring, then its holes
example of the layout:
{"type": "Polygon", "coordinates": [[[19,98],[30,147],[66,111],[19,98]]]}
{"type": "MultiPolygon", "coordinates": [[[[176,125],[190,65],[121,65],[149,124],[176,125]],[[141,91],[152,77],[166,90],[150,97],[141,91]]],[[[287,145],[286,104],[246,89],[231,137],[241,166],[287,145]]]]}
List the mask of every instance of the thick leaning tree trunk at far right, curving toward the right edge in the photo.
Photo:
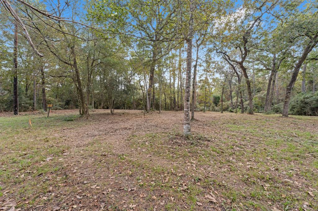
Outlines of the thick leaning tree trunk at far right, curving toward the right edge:
{"type": "MultiPolygon", "coordinates": [[[[317,36],[318,35],[315,36],[315,39],[317,39],[317,36]]],[[[312,51],[312,49],[316,46],[317,42],[318,41],[315,40],[315,42],[310,41],[308,43],[308,45],[306,46],[306,48],[304,49],[304,51],[301,55],[301,58],[299,59],[299,61],[297,62],[296,66],[293,70],[292,77],[291,77],[289,84],[287,85],[287,88],[286,88],[286,95],[285,95],[285,100],[284,100],[284,105],[283,105],[283,113],[282,113],[283,117],[288,117],[288,106],[289,106],[290,95],[291,95],[292,89],[294,87],[295,81],[297,79],[299,69],[301,68],[301,65],[303,64],[303,62],[307,58],[310,51],[312,51]]]]}

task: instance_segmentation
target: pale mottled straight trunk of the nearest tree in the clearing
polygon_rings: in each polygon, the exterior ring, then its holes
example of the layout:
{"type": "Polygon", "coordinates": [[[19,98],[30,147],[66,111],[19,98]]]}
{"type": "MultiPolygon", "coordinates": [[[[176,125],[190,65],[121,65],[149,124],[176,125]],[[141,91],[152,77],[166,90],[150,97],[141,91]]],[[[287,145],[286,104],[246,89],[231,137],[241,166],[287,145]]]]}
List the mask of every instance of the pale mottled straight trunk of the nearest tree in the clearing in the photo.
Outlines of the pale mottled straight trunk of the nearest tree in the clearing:
{"type": "Polygon", "coordinates": [[[194,0],[190,0],[190,24],[189,35],[187,42],[187,69],[184,90],[184,117],[183,117],[183,134],[189,136],[191,134],[190,125],[190,79],[191,79],[191,64],[192,64],[192,38],[193,38],[193,15],[194,15],[194,0]]]}

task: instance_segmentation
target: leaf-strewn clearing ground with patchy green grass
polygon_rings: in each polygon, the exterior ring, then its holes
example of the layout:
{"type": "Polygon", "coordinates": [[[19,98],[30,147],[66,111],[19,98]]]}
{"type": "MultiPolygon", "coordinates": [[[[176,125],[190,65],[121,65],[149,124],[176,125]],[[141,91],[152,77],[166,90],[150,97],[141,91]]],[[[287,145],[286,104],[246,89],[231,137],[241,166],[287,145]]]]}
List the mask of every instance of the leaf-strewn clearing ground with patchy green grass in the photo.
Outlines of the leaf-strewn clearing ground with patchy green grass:
{"type": "Polygon", "coordinates": [[[316,117],[77,113],[0,114],[0,209],[318,209],[316,117]]]}

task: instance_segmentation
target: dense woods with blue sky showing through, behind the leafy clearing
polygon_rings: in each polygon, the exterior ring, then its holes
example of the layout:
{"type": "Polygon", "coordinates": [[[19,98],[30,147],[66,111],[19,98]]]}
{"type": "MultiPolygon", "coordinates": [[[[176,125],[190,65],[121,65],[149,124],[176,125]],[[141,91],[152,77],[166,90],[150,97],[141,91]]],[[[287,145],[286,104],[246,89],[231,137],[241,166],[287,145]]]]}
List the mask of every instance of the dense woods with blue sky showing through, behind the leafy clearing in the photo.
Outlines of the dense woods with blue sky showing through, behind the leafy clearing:
{"type": "MultiPolygon", "coordinates": [[[[316,1],[1,0],[0,112],[318,115],[316,1]]],[[[191,116],[190,116],[191,115],[191,116]]]]}

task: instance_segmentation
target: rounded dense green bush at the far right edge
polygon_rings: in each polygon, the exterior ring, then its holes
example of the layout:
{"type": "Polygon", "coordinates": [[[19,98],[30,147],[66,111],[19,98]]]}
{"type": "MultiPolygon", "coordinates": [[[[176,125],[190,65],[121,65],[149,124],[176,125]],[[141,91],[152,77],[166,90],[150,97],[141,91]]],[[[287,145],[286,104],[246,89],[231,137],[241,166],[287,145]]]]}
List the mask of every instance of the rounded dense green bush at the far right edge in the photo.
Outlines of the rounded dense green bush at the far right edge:
{"type": "Polygon", "coordinates": [[[318,93],[299,93],[289,105],[292,115],[318,116],[318,93]]]}

